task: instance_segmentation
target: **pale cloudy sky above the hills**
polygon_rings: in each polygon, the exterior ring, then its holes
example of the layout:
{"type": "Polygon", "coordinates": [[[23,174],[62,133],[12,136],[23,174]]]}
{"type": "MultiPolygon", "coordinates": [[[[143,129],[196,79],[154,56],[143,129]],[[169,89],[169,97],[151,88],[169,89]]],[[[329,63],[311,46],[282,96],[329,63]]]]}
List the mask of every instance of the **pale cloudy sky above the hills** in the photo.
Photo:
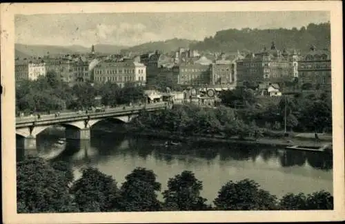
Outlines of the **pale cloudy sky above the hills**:
{"type": "Polygon", "coordinates": [[[229,28],[301,28],[330,21],[329,12],[130,12],[17,14],[15,42],[41,45],[132,46],[180,38],[201,41],[229,28]]]}

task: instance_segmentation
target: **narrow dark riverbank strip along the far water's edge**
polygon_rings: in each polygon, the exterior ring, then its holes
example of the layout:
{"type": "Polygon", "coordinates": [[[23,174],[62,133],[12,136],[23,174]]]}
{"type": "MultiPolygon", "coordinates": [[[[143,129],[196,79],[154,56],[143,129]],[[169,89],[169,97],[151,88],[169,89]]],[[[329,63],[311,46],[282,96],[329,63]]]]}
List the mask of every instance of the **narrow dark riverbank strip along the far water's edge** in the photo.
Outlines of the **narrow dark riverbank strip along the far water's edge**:
{"type": "MultiPolygon", "coordinates": [[[[106,132],[113,132],[112,130],[103,130],[106,132]]],[[[181,135],[179,133],[171,133],[166,130],[139,130],[138,128],[127,127],[126,130],[122,130],[121,134],[128,134],[132,136],[147,136],[160,139],[169,139],[172,141],[180,141],[186,143],[201,142],[201,143],[235,143],[243,145],[266,145],[271,147],[287,147],[293,145],[299,145],[302,147],[322,147],[325,144],[332,143],[328,139],[320,139],[315,141],[311,138],[300,138],[299,135],[292,135],[288,137],[262,137],[259,139],[238,139],[237,137],[226,138],[224,136],[201,136],[201,135],[181,135]]]]}

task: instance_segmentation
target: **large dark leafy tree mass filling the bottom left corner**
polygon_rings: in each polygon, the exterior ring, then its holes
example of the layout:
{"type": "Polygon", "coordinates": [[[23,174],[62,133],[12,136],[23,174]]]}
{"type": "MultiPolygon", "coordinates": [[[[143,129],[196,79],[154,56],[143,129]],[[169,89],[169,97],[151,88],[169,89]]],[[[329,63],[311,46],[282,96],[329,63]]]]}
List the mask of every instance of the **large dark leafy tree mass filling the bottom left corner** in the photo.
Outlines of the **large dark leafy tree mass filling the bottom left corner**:
{"type": "Polygon", "coordinates": [[[17,203],[19,213],[79,212],[63,172],[37,157],[17,163],[17,203]]]}

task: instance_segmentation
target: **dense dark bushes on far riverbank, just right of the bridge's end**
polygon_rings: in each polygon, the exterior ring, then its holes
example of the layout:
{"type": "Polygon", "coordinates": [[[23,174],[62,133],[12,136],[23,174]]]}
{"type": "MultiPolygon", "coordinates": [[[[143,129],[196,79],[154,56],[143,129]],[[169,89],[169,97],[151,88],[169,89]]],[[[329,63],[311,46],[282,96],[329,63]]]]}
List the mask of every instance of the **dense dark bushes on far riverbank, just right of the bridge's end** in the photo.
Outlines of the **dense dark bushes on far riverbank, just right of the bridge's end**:
{"type": "Polygon", "coordinates": [[[155,114],[142,110],[131,123],[139,130],[164,130],[179,136],[221,135],[240,139],[260,136],[255,123],[245,123],[235,110],[222,105],[216,109],[174,105],[171,110],[155,114]]]}

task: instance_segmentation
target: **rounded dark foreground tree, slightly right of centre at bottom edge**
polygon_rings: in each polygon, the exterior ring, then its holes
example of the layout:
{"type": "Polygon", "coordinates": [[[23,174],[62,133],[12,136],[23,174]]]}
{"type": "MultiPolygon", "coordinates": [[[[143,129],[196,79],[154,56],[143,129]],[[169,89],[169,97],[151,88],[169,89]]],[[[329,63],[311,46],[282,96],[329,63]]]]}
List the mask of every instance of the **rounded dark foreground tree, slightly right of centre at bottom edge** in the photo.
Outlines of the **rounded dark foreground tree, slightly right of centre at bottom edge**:
{"type": "Polygon", "coordinates": [[[166,210],[197,211],[209,210],[206,198],[200,196],[202,182],[195,178],[193,172],[184,171],[170,178],[168,190],[163,192],[166,210]]]}

